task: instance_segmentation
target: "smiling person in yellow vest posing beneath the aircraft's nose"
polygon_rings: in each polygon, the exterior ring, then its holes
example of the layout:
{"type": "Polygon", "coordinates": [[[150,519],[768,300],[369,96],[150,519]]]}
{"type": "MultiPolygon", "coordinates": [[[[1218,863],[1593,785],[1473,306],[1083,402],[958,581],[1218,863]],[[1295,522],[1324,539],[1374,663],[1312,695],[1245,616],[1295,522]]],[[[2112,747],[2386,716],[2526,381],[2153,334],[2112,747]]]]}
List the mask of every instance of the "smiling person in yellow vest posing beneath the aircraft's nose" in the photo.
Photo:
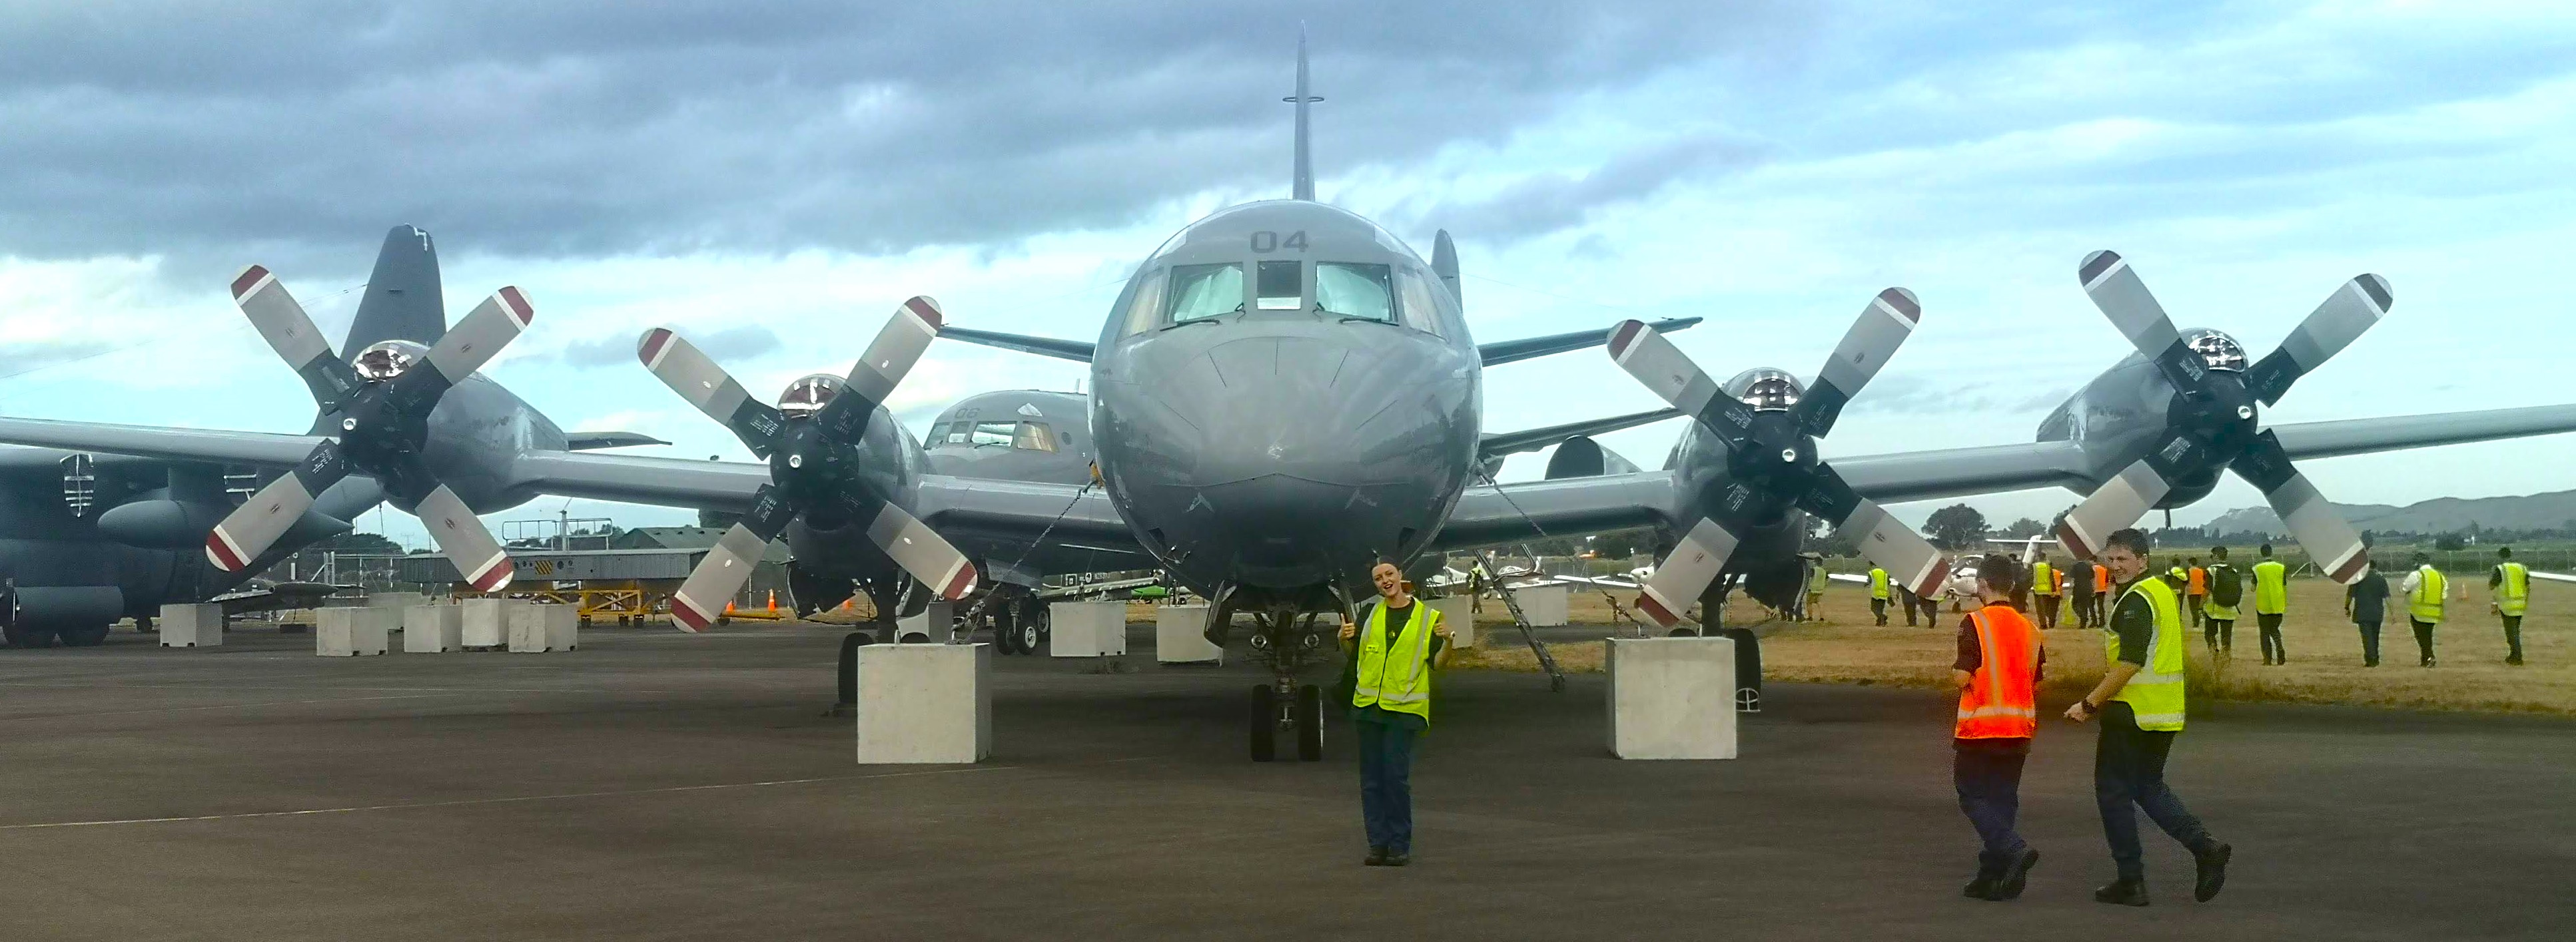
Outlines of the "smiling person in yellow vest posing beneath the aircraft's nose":
{"type": "Polygon", "coordinates": [[[1448,649],[1450,628],[1440,610],[1414,600],[1396,564],[1378,564],[1368,582],[1378,584],[1378,605],[1342,625],[1342,651],[1358,659],[1350,713],[1360,734],[1365,862],[1404,867],[1414,852],[1414,741],[1432,726],[1432,661],[1448,649]]]}

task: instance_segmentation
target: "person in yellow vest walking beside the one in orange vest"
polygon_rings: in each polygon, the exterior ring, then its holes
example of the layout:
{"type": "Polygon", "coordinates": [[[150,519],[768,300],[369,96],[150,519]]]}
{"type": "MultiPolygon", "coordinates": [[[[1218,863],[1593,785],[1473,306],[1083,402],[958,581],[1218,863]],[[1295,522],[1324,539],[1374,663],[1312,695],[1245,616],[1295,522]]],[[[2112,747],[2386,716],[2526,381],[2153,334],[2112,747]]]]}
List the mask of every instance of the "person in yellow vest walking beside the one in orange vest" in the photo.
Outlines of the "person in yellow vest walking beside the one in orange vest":
{"type": "Polygon", "coordinates": [[[2182,798],[2164,785],[2164,759],[2182,734],[2182,597],[2164,579],[2146,574],[2146,530],[2117,530],[2105,540],[2102,566],[2120,579],[2120,602],[2110,610],[2102,636],[2102,682],[2066,708],[2066,718],[2084,723],[2102,718],[2102,739],[2094,744],[2094,803],[2102,808],[2102,836],[2110,842],[2110,860],[2117,880],[2094,891],[2094,901],[2120,906],[2146,906],[2146,849],[2138,847],[2138,816],[2143,808],[2164,834],[2192,852],[2192,898],[2208,903],[2228,878],[2233,847],[2221,844],[2182,806],[2182,798]]]}

